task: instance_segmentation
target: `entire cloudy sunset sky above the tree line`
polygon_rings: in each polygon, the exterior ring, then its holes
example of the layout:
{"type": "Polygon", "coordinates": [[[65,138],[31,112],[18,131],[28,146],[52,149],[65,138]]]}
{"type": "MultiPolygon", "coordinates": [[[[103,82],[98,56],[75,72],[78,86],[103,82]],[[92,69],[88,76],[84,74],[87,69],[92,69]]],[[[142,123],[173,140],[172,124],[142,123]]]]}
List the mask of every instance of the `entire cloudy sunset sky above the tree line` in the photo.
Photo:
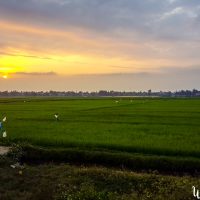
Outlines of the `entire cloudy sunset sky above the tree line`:
{"type": "Polygon", "coordinates": [[[200,89],[199,0],[0,0],[0,90],[200,89]]]}

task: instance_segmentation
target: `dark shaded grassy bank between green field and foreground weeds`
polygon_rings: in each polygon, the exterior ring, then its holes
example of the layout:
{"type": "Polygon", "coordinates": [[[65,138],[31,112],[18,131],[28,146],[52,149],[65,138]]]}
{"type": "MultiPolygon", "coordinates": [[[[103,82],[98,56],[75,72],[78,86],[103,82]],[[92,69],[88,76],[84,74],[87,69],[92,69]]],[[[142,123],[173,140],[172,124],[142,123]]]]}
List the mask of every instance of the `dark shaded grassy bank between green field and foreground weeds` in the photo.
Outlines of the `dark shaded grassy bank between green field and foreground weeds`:
{"type": "Polygon", "coordinates": [[[20,156],[21,162],[32,164],[68,162],[79,165],[96,164],[108,167],[126,168],[135,171],[157,171],[165,174],[189,173],[197,175],[200,173],[200,160],[190,157],[141,155],[102,150],[88,151],[78,148],[49,149],[30,145],[21,146],[20,148],[22,150],[20,156]]]}

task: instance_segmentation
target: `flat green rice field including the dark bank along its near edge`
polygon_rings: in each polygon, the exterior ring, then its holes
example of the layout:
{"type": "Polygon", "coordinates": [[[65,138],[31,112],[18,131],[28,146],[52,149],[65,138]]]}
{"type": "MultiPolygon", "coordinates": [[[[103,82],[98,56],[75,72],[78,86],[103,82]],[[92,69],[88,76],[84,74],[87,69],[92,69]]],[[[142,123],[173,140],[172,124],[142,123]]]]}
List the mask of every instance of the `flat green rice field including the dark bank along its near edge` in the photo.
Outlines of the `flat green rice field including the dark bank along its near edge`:
{"type": "MultiPolygon", "coordinates": [[[[8,137],[1,142],[42,147],[50,160],[200,170],[198,98],[0,99],[0,117],[5,115],[8,137]]],[[[39,152],[36,158],[44,159],[39,152]]]]}

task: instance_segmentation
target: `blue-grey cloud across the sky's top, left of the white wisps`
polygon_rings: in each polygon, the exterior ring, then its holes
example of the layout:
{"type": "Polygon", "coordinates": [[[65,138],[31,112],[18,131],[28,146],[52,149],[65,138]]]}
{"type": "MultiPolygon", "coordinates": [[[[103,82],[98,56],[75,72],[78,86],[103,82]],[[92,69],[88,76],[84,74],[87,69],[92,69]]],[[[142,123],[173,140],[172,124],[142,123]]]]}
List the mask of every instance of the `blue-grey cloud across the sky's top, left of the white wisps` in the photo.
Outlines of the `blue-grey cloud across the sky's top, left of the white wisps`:
{"type": "Polygon", "coordinates": [[[6,19],[21,23],[113,34],[121,28],[147,31],[151,20],[171,9],[170,5],[167,0],[22,0],[20,4],[7,0],[0,2],[0,11],[6,19]]]}

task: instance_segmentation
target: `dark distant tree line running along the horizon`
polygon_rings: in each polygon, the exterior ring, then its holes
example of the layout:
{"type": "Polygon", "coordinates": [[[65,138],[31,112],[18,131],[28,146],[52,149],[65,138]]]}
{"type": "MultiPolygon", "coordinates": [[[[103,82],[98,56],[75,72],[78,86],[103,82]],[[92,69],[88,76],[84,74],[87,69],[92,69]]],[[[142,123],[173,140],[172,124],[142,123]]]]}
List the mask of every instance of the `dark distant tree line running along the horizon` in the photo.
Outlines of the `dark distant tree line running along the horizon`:
{"type": "Polygon", "coordinates": [[[153,92],[140,91],[140,92],[118,92],[118,91],[106,91],[100,90],[98,92],[74,92],[74,91],[47,91],[47,92],[23,92],[23,91],[0,91],[0,97],[200,97],[200,91],[193,90],[180,90],[180,91],[159,91],[153,92]]]}

